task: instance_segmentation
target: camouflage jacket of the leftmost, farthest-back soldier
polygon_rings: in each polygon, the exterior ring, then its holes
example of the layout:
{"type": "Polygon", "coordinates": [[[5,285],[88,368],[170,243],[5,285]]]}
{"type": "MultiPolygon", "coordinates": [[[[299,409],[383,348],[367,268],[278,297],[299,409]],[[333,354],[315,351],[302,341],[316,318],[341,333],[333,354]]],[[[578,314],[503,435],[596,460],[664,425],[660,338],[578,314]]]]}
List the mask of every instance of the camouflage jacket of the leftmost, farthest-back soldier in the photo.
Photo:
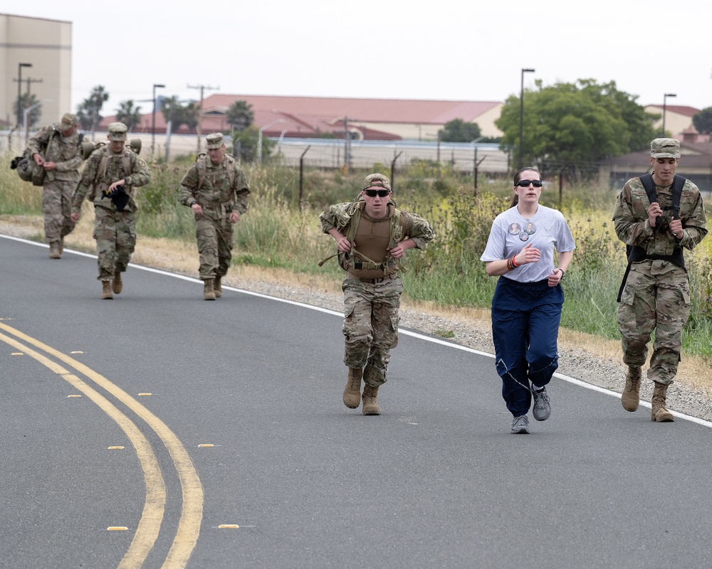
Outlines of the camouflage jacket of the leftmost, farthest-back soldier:
{"type": "Polygon", "coordinates": [[[29,139],[27,149],[32,154],[39,154],[46,162],[57,164],[56,169],[48,170],[46,180],[79,181],[79,166],[82,163],[81,134],[75,132],[70,137],[63,137],[58,124],[52,124],[38,130],[29,139]]]}

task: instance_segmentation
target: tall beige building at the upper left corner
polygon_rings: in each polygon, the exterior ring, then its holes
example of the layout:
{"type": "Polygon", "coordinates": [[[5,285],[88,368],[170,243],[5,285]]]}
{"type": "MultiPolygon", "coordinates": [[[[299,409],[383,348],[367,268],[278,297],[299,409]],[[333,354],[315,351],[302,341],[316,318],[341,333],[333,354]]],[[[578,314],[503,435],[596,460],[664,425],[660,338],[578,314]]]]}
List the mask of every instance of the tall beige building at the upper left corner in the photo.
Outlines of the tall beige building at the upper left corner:
{"type": "Polygon", "coordinates": [[[38,126],[58,122],[71,110],[71,76],[71,22],[0,14],[0,128],[16,127],[18,87],[42,103],[38,126]]]}

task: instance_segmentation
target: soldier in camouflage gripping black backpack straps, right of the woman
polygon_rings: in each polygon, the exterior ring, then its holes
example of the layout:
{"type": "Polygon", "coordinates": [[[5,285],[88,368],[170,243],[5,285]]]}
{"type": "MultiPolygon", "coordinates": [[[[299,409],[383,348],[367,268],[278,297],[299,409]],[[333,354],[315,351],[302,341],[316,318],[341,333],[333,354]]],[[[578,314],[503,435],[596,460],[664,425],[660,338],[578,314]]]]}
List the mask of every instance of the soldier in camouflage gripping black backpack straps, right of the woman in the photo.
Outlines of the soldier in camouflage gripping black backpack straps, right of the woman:
{"type": "Polygon", "coordinates": [[[680,142],[659,138],[650,144],[650,164],[657,201],[650,203],[640,178],[626,182],[616,201],[613,220],[618,238],[638,249],[630,264],[618,307],[623,361],[628,366],[623,407],[639,403],[641,366],[655,331],[648,378],[655,382],[651,420],[674,420],[666,409],[668,386],[677,373],[682,328],[690,314],[689,278],[682,249],[692,249],[707,235],[702,196],[686,180],[679,215],[674,215],[672,187],[680,157],[680,142]],[[637,260],[635,260],[637,258],[637,260]]]}

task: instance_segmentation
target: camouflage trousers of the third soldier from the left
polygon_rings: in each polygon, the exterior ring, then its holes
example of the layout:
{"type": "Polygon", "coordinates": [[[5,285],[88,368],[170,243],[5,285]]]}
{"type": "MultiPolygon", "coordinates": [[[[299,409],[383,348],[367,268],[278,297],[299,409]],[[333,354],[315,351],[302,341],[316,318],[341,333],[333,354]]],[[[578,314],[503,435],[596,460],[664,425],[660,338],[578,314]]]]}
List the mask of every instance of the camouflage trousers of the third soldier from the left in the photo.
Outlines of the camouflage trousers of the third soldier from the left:
{"type": "Polygon", "coordinates": [[[198,241],[201,280],[224,277],[232,264],[234,226],[227,217],[197,216],[195,238],[198,241]]]}

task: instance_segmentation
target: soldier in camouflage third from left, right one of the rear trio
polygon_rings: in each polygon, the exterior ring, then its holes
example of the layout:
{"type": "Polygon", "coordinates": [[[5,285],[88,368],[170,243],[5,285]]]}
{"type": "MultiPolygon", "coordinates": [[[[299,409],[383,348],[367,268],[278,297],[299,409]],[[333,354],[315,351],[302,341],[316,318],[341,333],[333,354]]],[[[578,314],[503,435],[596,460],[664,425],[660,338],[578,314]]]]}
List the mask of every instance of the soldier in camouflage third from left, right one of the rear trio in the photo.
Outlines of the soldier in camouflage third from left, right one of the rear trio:
{"type": "Polygon", "coordinates": [[[179,199],[195,216],[203,298],[215,300],[222,296],[222,278],[232,263],[234,224],[247,211],[250,186],[235,159],[225,154],[223,135],[208,134],[206,142],[208,155],[199,154],[183,177],[179,199]]]}

